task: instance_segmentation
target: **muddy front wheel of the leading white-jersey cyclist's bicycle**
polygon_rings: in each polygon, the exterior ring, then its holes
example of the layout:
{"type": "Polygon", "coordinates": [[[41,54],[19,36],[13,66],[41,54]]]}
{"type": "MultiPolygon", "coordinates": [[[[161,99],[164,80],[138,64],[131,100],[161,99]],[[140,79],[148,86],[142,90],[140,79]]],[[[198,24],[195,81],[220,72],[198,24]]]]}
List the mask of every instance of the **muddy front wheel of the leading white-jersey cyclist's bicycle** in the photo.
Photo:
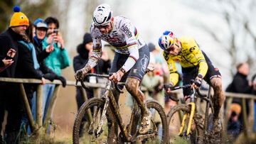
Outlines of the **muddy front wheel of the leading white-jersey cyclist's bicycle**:
{"type": "MultiPolygon", "coordinates": [[[[96,134],[103,108],[104,101],[100,98],[92,98],[82,104],[75,118],[73,143],[107,143],[107,118],[102,123],[100,133],[96,134]]],[[[106,116],[108,117],[109,114],[109,111],[107,111],[106,116]]]]}

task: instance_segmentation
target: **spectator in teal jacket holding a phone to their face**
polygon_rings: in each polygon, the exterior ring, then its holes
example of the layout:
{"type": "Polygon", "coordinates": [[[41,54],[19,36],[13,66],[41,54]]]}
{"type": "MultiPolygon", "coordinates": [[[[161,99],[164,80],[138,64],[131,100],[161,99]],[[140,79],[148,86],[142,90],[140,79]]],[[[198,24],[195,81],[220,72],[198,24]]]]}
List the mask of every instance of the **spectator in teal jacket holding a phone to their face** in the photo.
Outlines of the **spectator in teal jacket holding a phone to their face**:
{"type": "MultiPolygon", "coordinates": [[[[59,22],[57,18],[48,17],[46,18],[46,23],[48,26],[47,36],[43,39],[42,45],[43,50],[47,48],[48,45],[53,45],[53,52],[50,52],[50,55],[46,57],[45,63],[46,66],[53,70],[55,74],[61,76],[61,70],[70,65],[70,59],[68,57],[68,52],[65,50],[64,40],[61,37],[60,33],[58,33],[59,22]]],[[[63,86],[66,84],[66,80],[64,77],[61,77],[60,81],[63,83],[63,86]]],[[[43,87],[43,101],[46,101],[46,108],[43,113],[43,119],[46,116],[46,111],[50,104],[51,96],[53,95],[53,90],[55,88],[55,84],[46,84],[43,87]]]]}

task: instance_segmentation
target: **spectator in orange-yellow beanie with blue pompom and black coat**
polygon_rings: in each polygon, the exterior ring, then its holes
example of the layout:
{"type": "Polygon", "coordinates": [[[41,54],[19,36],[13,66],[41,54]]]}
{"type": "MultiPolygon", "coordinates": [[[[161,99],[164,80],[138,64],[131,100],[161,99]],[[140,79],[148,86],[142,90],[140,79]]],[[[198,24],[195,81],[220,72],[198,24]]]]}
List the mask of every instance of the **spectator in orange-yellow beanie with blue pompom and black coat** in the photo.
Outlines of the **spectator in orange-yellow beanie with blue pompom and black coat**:
{"type": "MultiPolygon", "coordinates": [[[[11,17],[8,30],[0,35],[0,60],[4,60],[9,50],[16,51],[16,55],[12,58],[14,62],[3,72],[0,72],[0,77],[15,77],[16,65],[18,62],[18,40],[22,40],[22,35],[29,26],[28,18],[18,6],[14,6],[14,14],[11,17]]],[[[1,61],[2,62],[2,61],[1,61]]],[[[3,63],[1,63],[2,67],[3,63]]],[[[15,143],[16,137],[20,128],[21,121],[21,99],[18,96],[19,89],[17,84],[0,82],[0,131],[2,131],[2,122],[4,121],[4,109],[8,111],[6,124],[6,143],[15,143]]],[[[0,143],[3,142],[0,135],[0,143]]]]}

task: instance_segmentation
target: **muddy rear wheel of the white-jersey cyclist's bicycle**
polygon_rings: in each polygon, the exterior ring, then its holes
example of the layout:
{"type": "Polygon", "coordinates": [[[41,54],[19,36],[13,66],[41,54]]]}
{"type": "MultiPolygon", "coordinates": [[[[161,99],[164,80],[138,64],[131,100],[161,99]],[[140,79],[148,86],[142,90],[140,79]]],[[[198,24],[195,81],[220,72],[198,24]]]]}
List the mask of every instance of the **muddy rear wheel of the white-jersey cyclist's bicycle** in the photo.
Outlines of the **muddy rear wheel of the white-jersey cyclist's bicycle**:
{"type": "MultiPolygon", "coordinates": [[[[169,133],[168,133],[168,125],[166,121],[166,115],[164,113],[164,109],[160,104],[156,101],[147,101],[146,106],[151,112],[151,128],[149,129],[149,133],[145,135],[137,135],[137,140],[134,143],[168,143],[169,133]],[[149,138],[143,138],[143,136],[150,135],[149,138]],[[154,134],[154,135],[153,135],[154,134]]],[[[132,128],[133,131],[138,133],[140,126],[140,118],[137,121],[134,121],[132,128]]]]}

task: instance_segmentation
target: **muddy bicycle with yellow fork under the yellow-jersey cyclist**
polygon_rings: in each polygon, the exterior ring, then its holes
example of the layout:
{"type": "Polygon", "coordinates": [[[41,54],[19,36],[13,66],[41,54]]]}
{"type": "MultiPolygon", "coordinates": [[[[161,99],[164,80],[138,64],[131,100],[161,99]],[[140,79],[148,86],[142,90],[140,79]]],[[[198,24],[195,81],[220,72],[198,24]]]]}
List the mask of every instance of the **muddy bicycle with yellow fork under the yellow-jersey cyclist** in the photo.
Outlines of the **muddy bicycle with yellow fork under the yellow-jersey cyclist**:
{"type": "MultiPolygon", "coordinates": [[[[164,88],[171,88],[171,91],[176,89],[189,88],[191,84],[186,84],[181,87],[169,87],[165,84],[164,88]]],[[[198,89],[191,88],[192,92],[188,96],[190,102],[188,104],[178,104],[171,108],[167,114],[168,126],[171,126],[170,141],[171,143],[210,143],[209,132],[213,129],[213,103],[211,101],[211,87],[208,94],[201,94],[198,89]],[[201,114],[196,106],[196,99],[199,98],[206,101],[206,110],[204,115],[201,114]],[[210,108],[210,109],[209,109],[210,108]],[[210,110],[210,111],[209,111],[210,110]],[[204,120],[203,120],[204,119],[204,120]]],[[[179,99],[172,95],[168,95],[169,99],[178,102],[179,99]]]]}

